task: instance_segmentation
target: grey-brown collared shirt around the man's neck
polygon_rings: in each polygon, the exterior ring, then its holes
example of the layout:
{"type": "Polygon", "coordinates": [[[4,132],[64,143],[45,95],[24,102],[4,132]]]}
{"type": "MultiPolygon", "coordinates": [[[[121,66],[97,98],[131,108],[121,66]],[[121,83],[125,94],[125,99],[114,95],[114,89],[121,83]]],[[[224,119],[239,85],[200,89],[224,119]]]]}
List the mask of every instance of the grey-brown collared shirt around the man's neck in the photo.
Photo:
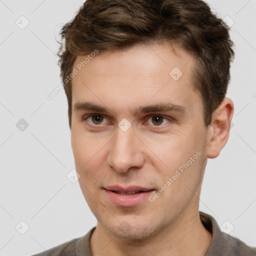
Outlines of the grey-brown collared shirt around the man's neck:
{"type": "MultiPolygon", "coordinates": [[[[204,256],[256,256],[256,247],[250,247],[241,240],[223,233],[212,216],[201,211],[199,213],[202,224],[212,233],[211,244],[204,256]]],[[[82,237],[74,238],[32,256],[92,256],[89,238],[94,229],[95,226],[82,237]]]]}

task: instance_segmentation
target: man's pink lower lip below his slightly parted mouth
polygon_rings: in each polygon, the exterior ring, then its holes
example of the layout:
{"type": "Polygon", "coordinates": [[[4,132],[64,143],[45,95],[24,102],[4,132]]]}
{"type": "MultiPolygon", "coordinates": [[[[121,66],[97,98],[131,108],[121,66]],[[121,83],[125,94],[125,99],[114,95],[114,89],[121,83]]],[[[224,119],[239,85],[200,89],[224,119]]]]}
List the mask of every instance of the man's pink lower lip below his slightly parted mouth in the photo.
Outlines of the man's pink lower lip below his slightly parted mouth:
{"type": "Polygon", "coordinates": [[[117,194],[110,190],[104,189],[109,196],[111,202],[118,206],[131,207],[140,204],[147,199],[154,190],[140,192],[136,194],[117,194]]]}

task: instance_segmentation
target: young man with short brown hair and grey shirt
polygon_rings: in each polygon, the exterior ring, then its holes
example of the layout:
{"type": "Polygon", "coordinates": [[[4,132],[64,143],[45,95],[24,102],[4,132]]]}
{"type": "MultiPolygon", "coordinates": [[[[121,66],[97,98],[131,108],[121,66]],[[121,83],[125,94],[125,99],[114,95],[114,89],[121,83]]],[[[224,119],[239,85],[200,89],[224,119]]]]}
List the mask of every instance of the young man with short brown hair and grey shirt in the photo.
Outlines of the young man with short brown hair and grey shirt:
{"type": "Polygon", "coordinates": [[[75,166],[97,225],[37,255],[256,255],[198,211],[234,108],[222,20],[201,0],[87,0],[61,35],[75,166]]]}

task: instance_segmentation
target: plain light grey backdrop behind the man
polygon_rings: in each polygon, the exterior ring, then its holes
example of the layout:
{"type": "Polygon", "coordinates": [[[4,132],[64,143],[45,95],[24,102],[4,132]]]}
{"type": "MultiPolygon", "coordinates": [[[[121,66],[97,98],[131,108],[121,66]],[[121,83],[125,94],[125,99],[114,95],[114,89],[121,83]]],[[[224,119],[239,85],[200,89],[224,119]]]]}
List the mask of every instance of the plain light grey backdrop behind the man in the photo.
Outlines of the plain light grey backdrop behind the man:
{"type": "MultiPolygon", "coordinates": [[[[256,246],[256,0],[208,2],[234,21],[236,56],[227,96],[235,109],[226,146],[208,159],[200,210],[256,246]]],[[[75,166],[64,91],[46,98],[60,83],[54,37],[82,3],[0,0],[0,255],[31,255],[96,224],[78,181],[66,177],[75,166]],[[29,21],[23,29],[21,15],[29,21]],[[22,121],[16,126],[21,118],[29,124],[23,131],[17,127],[22,121]],[[20,221],[29,226],[24,234],[20,221]]]]}

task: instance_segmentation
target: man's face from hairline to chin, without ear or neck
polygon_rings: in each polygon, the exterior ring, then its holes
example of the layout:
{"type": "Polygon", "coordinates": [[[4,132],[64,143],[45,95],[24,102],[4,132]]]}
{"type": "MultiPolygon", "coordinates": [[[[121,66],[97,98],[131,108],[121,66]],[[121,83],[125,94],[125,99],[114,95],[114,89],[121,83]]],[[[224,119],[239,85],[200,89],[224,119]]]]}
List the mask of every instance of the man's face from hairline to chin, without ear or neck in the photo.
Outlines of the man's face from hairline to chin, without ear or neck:
{"type": "Polygon", "coordinates": [[[178,55],[163,44],[99,52],[72,80],[79,184],[98,225],[118,237],[146,238],[197,212],[207,129],[192,84],[195,62],[175,49],[178,55]],[[181,107],[148,108],[158,104],[181,107]],[[118,192],[126,190],[144,192],[118,192]]]}

